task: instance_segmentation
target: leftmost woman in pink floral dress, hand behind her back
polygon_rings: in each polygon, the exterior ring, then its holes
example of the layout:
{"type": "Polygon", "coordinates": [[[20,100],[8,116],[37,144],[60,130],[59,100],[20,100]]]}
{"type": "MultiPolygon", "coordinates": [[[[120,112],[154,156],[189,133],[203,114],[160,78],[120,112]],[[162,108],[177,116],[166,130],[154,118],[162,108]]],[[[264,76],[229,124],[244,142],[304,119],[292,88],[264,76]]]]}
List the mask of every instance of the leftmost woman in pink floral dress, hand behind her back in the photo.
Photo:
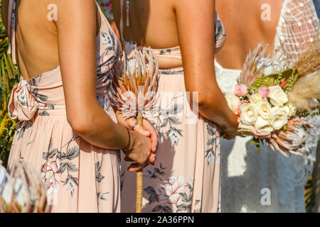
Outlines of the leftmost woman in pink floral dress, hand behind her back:
{"type": "Polygon", "coordinates": [[[119,212],[119,150],[134,160],[129,171],[145,167],[154,131],[117,124],[109,90],[120,45],[110,23],[94,0],[3,0],[2,18],[21,72],[9,168],[23,159],[40,171],[53,212],[119,212]]]}

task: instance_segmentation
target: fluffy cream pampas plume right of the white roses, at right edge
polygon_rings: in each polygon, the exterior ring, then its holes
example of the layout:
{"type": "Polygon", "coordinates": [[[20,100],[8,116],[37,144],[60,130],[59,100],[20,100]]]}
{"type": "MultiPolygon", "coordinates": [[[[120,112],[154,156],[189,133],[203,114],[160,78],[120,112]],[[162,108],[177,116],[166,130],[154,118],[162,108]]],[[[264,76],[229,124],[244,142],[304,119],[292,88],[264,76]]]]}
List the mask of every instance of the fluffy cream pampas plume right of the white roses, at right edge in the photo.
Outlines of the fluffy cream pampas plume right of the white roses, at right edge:
{"type": "Polygon", "coordinates": [[[320,70],[300,77],[288,92],[288,99],[301,113],[319,109],[320,70]]]}

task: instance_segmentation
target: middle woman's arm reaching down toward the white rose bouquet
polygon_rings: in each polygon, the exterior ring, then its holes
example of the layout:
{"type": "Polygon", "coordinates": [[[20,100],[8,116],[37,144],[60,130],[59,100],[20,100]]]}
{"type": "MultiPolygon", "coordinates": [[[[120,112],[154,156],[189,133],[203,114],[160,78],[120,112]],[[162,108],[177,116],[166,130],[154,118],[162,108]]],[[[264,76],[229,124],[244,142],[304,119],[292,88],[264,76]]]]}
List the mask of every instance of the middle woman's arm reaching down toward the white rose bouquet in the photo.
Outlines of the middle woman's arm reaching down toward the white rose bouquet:
{"type": "Polygon", "coordinates": [[[198,111],[225,133],[235,133],[237,116],[215,79],[214,0],[172,0],[176,12],[187,92],[198,92],[198,111]]]}

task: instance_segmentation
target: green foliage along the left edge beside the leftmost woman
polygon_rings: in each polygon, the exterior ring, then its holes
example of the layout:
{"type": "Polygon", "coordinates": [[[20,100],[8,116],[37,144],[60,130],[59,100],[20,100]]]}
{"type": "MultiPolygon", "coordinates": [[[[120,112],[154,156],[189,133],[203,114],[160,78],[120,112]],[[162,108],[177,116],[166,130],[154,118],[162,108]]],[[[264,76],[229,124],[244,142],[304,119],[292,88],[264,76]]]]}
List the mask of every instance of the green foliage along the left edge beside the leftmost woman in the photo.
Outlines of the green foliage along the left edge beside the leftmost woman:
{"type": "Polygon", "coordinates": [[[12,64],[11,55],[7,55],[6,53],[8,45],[6,29],[0,20],[0,159],[4,161],[5,167],[8,161],[11,143],[14,139],[14,132],[16,131],[16,121],[8,116],[8,101],[12,88],[19,80],[18,68],[12,64]]]}

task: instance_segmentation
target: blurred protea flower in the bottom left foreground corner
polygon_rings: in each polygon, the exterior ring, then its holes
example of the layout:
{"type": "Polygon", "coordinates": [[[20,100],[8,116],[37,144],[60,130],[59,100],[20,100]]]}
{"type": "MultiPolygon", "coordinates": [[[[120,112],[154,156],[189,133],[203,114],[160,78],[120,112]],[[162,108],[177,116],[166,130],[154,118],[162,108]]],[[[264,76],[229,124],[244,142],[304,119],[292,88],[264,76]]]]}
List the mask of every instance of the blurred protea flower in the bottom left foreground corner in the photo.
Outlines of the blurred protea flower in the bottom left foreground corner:
{"type": "Polygon", "coordinates": [[[49,212],[46,189],[40,175],[23,160],[19,160],[6,173],[6,183],[0,188],[0,212],[49,212]]]}

